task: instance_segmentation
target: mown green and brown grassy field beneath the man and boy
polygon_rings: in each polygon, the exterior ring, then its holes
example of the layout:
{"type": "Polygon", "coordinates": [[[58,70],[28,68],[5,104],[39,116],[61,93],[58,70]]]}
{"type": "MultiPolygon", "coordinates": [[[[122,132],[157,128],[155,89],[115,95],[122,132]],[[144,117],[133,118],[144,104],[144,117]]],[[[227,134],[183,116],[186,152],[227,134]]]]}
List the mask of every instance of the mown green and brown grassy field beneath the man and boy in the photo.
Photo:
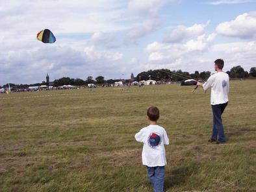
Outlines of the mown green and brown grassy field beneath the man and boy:
{"type": "Polygon", "coordinates": [[[256,80],[230,82],[227,143],[208,143],[210,93],[179,84],[0,95],[0,191],[151,191],[134,134],[166,129],[166,191],[256,191],[256,80]]]}

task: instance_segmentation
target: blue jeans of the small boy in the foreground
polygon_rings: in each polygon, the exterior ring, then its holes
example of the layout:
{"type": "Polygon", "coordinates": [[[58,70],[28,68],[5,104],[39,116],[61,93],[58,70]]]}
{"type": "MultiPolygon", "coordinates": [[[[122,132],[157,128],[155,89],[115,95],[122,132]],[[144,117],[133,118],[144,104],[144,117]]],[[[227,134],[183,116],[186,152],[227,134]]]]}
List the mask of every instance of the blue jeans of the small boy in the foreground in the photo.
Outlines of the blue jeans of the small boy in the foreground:
{"type": "Polygon", "coordinates": [[[164,191],[164,166],[147,167],[147,176],[151,181],[154,192],[164,191]]]}

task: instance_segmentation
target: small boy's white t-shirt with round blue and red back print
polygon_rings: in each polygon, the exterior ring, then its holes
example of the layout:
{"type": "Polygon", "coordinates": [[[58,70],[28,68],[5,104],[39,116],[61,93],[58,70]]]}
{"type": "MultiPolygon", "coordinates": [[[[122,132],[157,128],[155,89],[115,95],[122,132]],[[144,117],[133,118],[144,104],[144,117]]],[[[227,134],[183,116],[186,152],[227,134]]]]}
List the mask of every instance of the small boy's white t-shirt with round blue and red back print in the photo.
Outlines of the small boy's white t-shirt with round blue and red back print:
{"type": "Polygon", "coordinates": [[[142,164],[147,167],[166,165],[164,145],[169,145],[166,130],[159,125],[149,125],[136,133],[134,138],[144,143],[142,150],[142,164]]]}

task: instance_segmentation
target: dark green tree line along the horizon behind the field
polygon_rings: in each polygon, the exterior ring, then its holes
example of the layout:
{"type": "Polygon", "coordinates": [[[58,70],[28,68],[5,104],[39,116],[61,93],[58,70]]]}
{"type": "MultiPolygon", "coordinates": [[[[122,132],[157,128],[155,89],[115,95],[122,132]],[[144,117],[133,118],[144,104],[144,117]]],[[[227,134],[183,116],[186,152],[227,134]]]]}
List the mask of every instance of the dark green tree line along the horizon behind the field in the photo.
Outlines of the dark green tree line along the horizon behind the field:
{"type": "MultiPolygon", "coordinates": [[[[248,78],[248,77],[256,77],[256,67],[251,67],[250,72],[245,71],[241,66],[235,66],[230,69],[230,71],[226,72],[230,78],[248,78]]],[[[172,81],[177,82],[188,78],[194,78],[196,80],[207,80],[211,76],[210,71],[203,71],[199,73],[199,71],[195,71],[194,73],[188,73],[185,71],[181,71],[181,69],[177,71],[170,71],[170,69],[155,69],[138,73],[138,75],[134,79],[123,80],[124,83],[129,83],[133,80],[157,80],[157,81],[172,81]]],[[[109,79],[105,80],[103,76],[98,76],[93,79],[93,77],[89,76],[86,80],[81,78],[70,78],[70,77],[62,77],[54,80],[53,86],[83,86],[87,84],[114,84],[114,82],[120,81],[121,79],[109,79]]],[[[29,86],[41,86],[45,83],[36,83],[36,84],[13,84],[10,83],[10,87],[18,88],[18,89],[27,89],[29,86]]],[[[6,88],[8,84],[0,86],[0,88],[6,88]]]]}

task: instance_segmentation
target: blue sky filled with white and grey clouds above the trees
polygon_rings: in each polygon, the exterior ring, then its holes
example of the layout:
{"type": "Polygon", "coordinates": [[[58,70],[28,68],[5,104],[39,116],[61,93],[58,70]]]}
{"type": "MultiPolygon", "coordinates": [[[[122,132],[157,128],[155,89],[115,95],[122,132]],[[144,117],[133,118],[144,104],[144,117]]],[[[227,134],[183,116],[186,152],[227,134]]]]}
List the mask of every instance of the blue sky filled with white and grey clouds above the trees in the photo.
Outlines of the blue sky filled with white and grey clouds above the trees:
{"type": "Polygon", "coordinates": [[[0,85],[256,66],[256,0],[0,0],[0,18],[0,85]]]}

